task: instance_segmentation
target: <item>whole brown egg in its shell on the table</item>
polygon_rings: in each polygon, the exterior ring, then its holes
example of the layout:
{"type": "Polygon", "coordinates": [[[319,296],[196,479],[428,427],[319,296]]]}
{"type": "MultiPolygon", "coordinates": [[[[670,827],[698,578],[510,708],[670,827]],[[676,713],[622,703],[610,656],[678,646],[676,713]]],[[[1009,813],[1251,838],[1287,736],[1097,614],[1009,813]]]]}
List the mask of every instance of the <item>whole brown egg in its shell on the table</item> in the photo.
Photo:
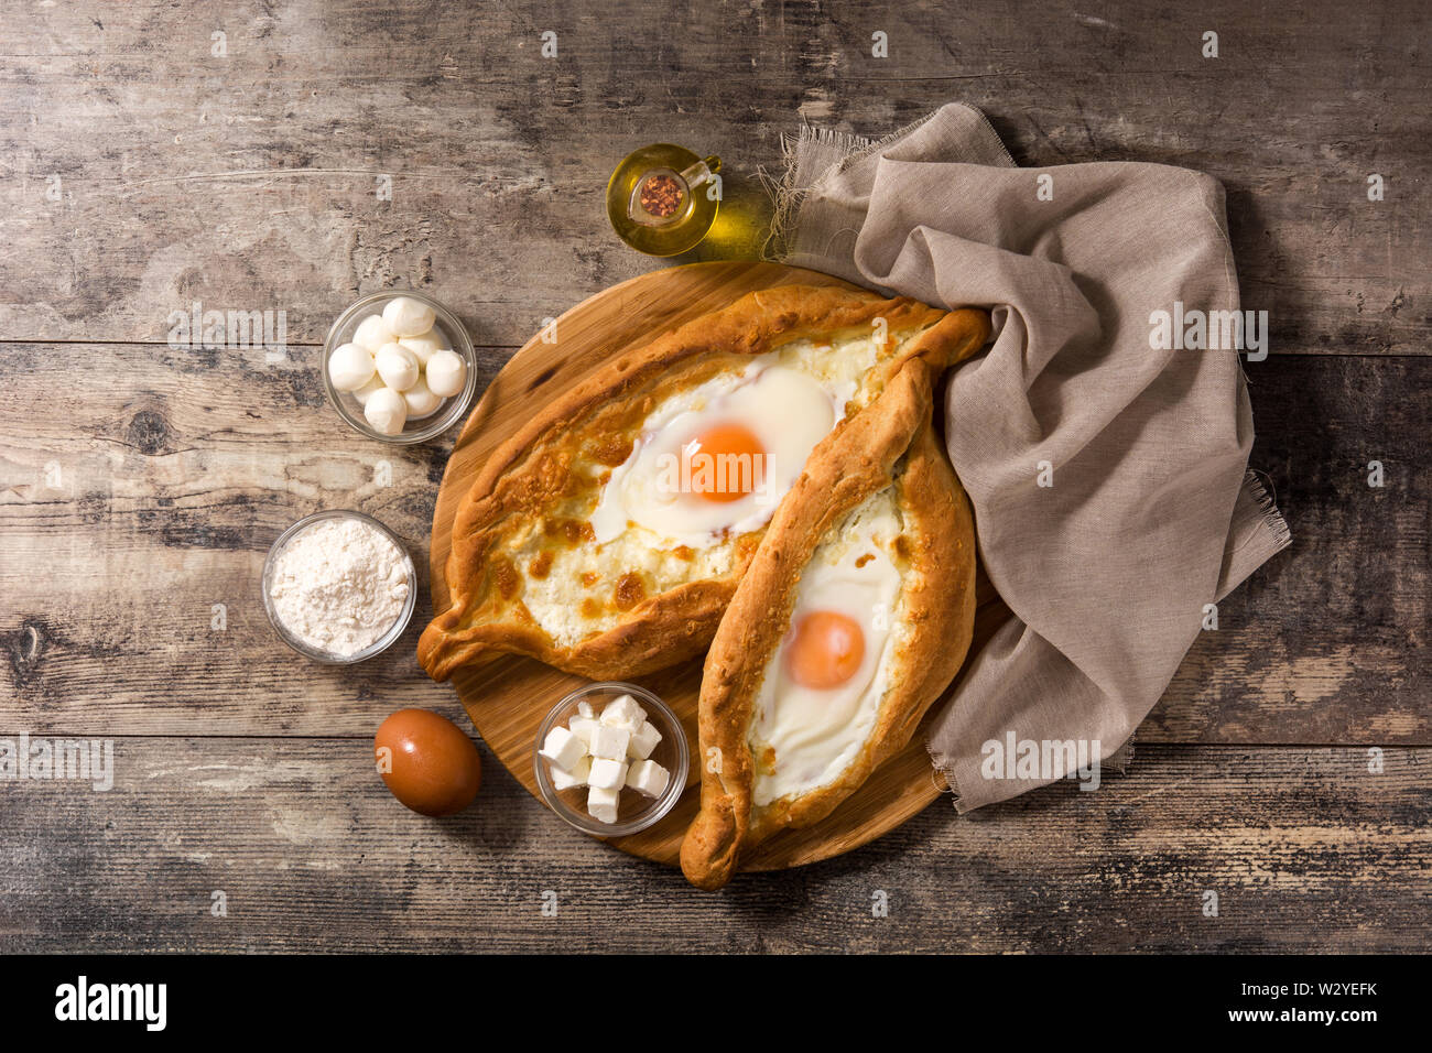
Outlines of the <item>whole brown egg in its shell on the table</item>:
{"type": "Polygon", "coordinates": [[[463,811],[483,784],[483,761],[473,739],[427,709],[395,712],[378,728],[372,748],[388,789],[421,815],[463,811]]]}

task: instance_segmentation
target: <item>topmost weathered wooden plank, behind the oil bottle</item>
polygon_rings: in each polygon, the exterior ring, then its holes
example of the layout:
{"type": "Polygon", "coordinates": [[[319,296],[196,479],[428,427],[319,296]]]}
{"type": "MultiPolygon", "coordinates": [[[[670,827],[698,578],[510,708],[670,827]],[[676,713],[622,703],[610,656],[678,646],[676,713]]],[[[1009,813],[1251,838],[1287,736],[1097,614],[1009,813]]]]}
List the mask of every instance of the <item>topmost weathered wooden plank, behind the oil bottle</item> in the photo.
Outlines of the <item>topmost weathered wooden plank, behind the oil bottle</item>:
{"type": "Polygon", "coordinates": [[[412,284],[480,341],[520,344],[659,265],[603,216],[629,149],[720,153],[736,222],[699,255],[745,256],[756,168],[798,115],[884,135],[962,99],[1027,165],[1153,160],[1223,179],[1244,298],[1270,311],[1274,351],[1423,354],[1429,29],[1415,0],[1320,0],[1296,19],[1232,0],[1157,17],[1053,3],[1034,23],[994,0],[955,19],[874,0],[37,9],[0,44],[0,335],[155,341],[198,299],[286,309],[291,338],[316,341],[359,291],[412,284]],[[1217,59],[1200,54],[1209,29],[1217,59]],[[871,56],[875,32],[888,59],[871,56]],[[1366,198],[1372,173],[1382,202],[1366,198]]]}

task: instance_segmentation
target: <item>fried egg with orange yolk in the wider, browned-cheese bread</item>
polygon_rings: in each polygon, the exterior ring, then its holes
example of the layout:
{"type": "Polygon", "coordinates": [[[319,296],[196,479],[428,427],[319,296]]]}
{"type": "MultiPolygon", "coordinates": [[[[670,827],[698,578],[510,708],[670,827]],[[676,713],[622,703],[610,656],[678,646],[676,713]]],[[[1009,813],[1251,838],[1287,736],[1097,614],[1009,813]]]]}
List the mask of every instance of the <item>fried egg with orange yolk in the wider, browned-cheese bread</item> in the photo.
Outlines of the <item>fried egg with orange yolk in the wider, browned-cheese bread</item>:
{"type": "Polygon", "coordinates": [[[705,547],[765,526],[855,387],[762,355],[669,398],[603,486],[594,540],[640,527],[664,546],[705,547]]]}

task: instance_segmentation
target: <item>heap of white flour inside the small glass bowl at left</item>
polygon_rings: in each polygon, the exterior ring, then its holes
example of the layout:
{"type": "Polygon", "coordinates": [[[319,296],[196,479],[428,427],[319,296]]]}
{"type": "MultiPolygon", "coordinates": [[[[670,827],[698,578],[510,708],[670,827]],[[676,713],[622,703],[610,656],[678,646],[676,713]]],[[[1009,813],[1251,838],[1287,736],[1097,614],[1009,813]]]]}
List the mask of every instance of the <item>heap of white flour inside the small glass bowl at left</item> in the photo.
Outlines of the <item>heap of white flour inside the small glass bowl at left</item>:
{"type": "Polygon", "coordinates": [[[284,546],[269,597],[291,633],[348,656],[392,628],[411,587],[398,546],[361,520],[332,519],[284,546]]]}

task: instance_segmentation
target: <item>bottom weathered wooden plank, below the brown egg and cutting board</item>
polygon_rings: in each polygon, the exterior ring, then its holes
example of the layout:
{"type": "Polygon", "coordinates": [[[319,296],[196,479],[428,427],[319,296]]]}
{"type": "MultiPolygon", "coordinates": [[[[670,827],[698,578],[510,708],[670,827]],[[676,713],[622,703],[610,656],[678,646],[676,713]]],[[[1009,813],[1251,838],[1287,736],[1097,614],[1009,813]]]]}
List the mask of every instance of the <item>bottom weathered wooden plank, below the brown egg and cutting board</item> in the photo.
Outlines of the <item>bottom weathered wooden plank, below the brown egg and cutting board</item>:
{"type": "Polygon", "coordinates": [[[1146,748],[1093,794],[935,804],[719,895],[566,828],[493,764],[468,812],[412,815],[368,749],[120,739],[109,792],[4,784],[0,951],[1416,951],[1432,933],[1428,749],[1370,774],[1362,749],[1146,748]]]}

